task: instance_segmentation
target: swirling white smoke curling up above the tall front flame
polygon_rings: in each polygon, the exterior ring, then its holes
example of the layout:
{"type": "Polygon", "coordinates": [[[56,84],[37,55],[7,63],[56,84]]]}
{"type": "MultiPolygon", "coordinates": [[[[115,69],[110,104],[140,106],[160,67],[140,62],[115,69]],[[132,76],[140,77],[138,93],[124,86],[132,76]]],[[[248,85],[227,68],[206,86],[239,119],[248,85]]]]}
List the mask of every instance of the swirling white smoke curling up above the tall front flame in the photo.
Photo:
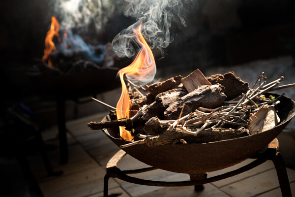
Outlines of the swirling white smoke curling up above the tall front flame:
{"type": "Polygon", "coordinates": [[[187,5],[192,6],[192,0],[130,0],[125,15],[137,19],[137,22],[115,36],[112,49],[119,57],[131,58],[140,49],[133,33],[143,24],[142,34],[151,49],[160,50],[174,40],[174,28],[186,27],[185,16],[187,5]]]}

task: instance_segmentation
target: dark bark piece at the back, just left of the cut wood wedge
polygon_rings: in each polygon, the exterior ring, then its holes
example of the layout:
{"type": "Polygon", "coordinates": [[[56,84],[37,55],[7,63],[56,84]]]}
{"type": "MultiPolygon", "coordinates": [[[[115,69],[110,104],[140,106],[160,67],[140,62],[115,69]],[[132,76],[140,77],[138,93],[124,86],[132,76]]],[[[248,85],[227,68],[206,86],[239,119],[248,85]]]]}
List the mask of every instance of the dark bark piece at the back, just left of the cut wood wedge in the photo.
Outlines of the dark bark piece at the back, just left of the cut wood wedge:
{"type": "Polygon", "coordinates": [[[159,93],[166,92],[176,88],[180,83],[183,77],[181,75],[167,79],[166,81],[156,82],[148,86],[147,92],[150,92],[153,95],[158,95],[159,93]]]}

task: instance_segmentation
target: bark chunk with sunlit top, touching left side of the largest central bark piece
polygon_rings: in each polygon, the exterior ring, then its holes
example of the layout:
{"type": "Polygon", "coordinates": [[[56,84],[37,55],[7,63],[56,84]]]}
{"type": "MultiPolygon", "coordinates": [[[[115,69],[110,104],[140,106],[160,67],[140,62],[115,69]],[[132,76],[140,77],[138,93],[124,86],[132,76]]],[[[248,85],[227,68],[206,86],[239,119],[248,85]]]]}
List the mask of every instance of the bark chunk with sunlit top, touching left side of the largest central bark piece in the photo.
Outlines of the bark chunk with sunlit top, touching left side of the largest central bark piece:
{"type": "Polygon", "coordinates": [[[183,89],[173,89],[158,94],[155,101],[148,106],[143,119],[148,121],[151,117],[155,116],[163,118],[165,109],[186,94],[187,91],[183,89]]]}

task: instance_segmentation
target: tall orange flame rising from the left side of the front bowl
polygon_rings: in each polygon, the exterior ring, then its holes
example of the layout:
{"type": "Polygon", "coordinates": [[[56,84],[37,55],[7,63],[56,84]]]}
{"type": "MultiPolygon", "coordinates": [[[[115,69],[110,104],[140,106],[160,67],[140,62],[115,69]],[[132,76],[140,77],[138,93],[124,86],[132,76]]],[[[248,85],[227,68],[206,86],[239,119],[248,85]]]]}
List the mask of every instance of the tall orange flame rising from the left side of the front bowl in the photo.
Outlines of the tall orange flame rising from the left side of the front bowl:
{"type": "MultiPolygon", "coordinates": [[[[144,36],[141,33],[141,27],[134,30],[134,34],[138,38],[138,44],[141,45],[142,49],[136,56],[135,60],[131,63],[131,65],[124,67],[119,70],[118,74],[120,76],[121,85],[122,85],[122,94],[117,103],[117,118],[129,118],[131,101],[128,94],[128,90],[126,84],[124,82],[124,74],[130,76],[131,78],[147,78],[151,74],[155,73],[156,64],[151,52],[151,49],[148,46],[144,36]]],[[[133,136],[124,127],[120,127],[120,136],[126,140],[132,140],[133,136]]]]}

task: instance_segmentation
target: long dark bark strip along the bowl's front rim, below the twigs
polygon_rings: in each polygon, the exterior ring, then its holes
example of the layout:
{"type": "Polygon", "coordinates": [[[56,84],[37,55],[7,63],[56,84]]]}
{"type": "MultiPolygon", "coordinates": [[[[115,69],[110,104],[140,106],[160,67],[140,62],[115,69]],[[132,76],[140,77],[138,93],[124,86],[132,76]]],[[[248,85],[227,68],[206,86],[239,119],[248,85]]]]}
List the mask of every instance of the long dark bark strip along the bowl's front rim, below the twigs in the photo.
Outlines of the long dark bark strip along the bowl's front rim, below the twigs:
{"type": "Polygon", "coordinates": [[[183,133],[178,128],[172,132],[161,133],[157,136],[148,137],[144,139],[144,142],[148,146],[165,145],[165,144],[176,144],[181,143],[181,139],[184,139],[187,143],[208,143],[214,141],[221,141],[227,139],[233,139],[237,137],[243,137],[249,135],[249,130],[233,130],[233,129],[206,129],[201,131],[197,136],[183,133]]]}

